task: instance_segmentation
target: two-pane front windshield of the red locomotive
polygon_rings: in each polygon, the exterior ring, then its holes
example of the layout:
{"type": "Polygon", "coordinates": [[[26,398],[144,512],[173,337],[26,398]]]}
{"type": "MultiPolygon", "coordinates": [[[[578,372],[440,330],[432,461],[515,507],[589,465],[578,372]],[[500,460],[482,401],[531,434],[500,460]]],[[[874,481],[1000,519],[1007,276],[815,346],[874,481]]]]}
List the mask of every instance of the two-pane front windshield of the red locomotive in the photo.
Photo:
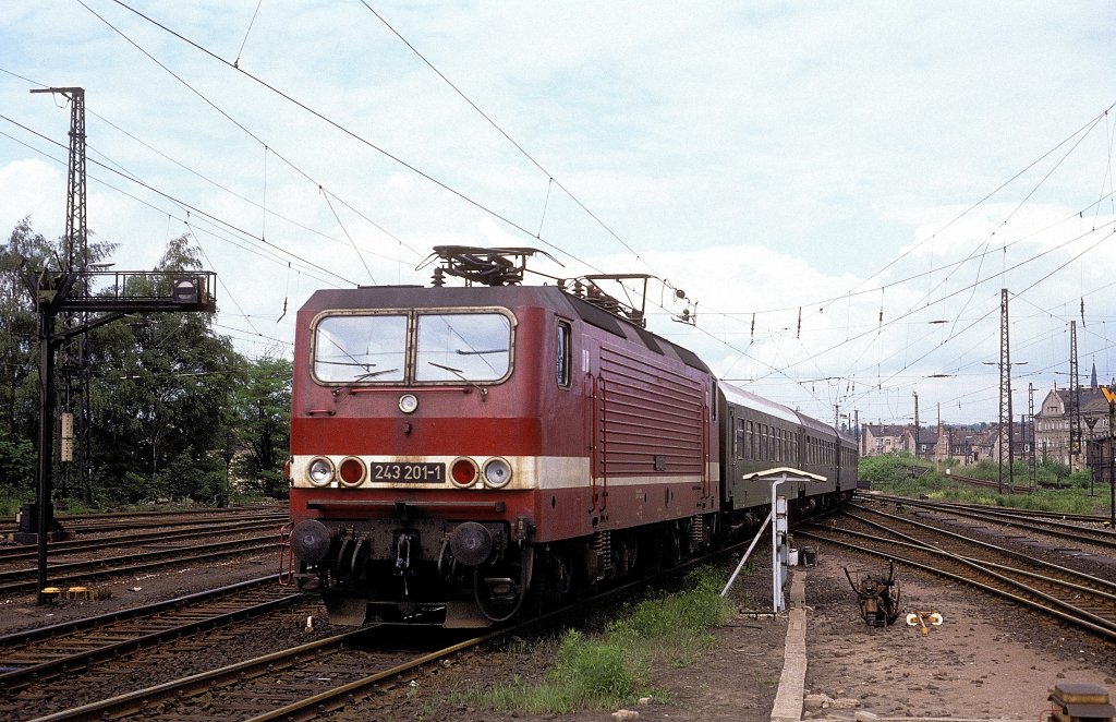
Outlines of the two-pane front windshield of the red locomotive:
{"type": "Polygon", "coordinates": [[[498,381],[510,364],[502,313],[337,315],[315,329],[314,376],[324,383],[498,381]]]}

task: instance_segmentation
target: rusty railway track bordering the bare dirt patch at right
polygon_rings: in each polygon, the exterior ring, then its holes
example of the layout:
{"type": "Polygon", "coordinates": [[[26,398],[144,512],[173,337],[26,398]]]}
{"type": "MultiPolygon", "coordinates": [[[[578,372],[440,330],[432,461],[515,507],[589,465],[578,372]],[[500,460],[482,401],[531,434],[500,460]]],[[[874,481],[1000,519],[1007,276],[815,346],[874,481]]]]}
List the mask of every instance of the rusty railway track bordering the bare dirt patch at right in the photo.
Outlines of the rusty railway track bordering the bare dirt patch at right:
{"type": "Polygon", "coordinates": [[[1116,583],[930,524],[853,505],[796,538],[822,541],[923,569],[1023,604],[1116,640],[1116,583]],[[979,554],[979,555],[978,555],[979,554]]]}

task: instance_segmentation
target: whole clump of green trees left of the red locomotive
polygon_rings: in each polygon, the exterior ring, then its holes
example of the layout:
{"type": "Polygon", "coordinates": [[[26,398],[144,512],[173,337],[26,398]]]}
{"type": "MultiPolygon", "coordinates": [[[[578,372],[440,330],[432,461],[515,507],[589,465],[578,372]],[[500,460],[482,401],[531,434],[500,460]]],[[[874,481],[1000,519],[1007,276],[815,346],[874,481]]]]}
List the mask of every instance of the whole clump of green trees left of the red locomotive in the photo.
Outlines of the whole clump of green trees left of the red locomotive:
{"type": "MultiPolygon", "coordinates": [[[[0,498],[28,501],[35,488],[38,317],[28,276],[33,287],[37,273],[58,270],[58,246],[25,218],[0,247],[0,498]]],[[[104,260],[113,249],[89,244],[89,259],[104,260]]],[[[170,274],[201,266],[190,237],[174,238],[151,275],[128,276],[129,295],[169,295],[170,274]]],[[[282,495],[289,361],[247,361],[202,313],[131,314],[93,329],[84,342],[84,367],[75,368],[78,357],[65,346],[59,351],[57,408],[67,409],[77,373],[88,374],[92,483],[57,484],[59,497],[80,494],[99,506],[170,496],[215,501],[225,494],[225,452],[233,446],[246,452],[235,464],[251,491],[282,495]]]]}

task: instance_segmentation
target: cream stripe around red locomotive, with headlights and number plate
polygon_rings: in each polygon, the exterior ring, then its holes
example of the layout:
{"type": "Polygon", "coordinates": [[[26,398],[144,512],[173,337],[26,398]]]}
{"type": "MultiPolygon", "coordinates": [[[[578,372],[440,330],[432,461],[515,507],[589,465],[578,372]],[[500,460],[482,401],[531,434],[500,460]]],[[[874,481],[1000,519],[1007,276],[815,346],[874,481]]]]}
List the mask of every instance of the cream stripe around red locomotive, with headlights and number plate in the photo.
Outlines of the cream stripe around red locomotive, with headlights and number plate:
{"type": "MultiPolygon", "coordinates": [[[[568,456],[294,456],[291,478],[297,488],[577,488],[588,487],[588,457],[568,456]]],[[[720,481],[716,464],[708,479],[720,481]]],[[[695,483],[696,474],[655,474],[597,478],[597,484],[695,483]]]]}

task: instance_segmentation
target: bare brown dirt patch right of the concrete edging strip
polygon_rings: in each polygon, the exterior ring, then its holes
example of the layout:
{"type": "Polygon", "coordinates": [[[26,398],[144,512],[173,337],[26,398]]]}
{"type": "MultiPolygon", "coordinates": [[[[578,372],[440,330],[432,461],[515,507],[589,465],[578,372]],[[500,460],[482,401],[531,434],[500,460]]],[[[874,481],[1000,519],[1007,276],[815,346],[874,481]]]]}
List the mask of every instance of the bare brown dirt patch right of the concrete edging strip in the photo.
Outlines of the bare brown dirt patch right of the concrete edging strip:
{"type": "Polygon", "coordinates": [[[806,686],[855,701],[854,710],[811,715],[1038,720],[1056,684],[1091,683],[1116,693],[1113,647],[1036,612],[975,595],[958,583],[901,571],[905,612],[937,611],[943,623],[867,626],[857,616],[843,567],[864,561],[827,551],[807,569],[806,686]]]}

